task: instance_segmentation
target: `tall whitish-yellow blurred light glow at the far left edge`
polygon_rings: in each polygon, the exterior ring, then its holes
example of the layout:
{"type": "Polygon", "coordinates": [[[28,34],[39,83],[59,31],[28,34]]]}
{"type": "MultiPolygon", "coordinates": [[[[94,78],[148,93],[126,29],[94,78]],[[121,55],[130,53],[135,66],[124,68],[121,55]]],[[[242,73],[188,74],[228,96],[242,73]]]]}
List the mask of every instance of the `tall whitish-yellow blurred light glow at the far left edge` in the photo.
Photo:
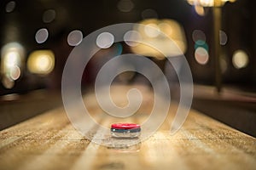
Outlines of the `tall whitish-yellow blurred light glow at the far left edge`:
{"type": "Polygon", "coordinates": [[[9,42],[1,50],[1,74],[5,88],[13,88],[20,78],[25,49],[18,42],[9,42]]]}

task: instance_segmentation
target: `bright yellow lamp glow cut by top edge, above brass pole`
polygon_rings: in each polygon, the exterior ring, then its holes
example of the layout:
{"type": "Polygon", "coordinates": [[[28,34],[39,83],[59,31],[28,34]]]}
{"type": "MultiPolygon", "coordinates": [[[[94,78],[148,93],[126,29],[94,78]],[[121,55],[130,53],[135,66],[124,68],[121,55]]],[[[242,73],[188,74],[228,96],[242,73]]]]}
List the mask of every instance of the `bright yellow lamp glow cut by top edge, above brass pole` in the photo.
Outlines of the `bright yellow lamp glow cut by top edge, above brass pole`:
{"type": "Polygon", "coordinates": [[[236,0],[187,0],[190,5],[200,5],[202,7],[221,7],[226,2],[234,3],[236,0]]]}

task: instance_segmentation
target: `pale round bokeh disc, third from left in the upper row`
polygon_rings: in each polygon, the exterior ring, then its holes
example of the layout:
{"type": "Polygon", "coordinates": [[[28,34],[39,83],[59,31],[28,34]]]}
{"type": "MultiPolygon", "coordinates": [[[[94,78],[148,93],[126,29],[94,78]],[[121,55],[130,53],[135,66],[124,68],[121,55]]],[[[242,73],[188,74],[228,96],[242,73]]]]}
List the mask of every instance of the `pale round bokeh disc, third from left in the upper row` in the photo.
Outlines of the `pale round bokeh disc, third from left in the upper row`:
{"type": "Polygon", "coordinates": [[[113,45],[114,37],[113,34],[109,32],[102,32],[96,38],[96,45],[99,48],[110,48],[113,45]]]}

